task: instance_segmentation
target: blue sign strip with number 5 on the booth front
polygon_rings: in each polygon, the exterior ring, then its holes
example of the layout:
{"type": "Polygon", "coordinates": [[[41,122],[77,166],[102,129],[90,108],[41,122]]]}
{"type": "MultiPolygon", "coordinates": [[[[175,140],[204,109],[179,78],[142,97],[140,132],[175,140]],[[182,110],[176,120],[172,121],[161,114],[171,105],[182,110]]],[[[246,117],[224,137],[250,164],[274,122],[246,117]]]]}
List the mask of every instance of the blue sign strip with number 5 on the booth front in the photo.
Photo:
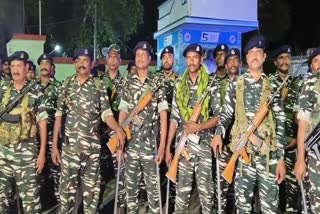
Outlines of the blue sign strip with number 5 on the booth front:
{"type": "Polygon", "coordinates": [[[219,32],[207,30],[182,30],[184,43],[200,43],[217,45],[225,43],[229,46],[240,46],[241,35],[238,32],[219,32]]]}

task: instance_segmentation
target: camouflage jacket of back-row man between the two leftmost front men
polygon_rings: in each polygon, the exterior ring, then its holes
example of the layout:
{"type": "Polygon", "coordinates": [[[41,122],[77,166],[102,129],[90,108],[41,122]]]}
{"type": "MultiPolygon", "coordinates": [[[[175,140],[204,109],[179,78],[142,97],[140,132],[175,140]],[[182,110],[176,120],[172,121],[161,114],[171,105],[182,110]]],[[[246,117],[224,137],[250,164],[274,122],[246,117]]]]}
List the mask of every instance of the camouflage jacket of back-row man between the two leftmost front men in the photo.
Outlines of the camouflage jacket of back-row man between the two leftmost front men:
{"type": "MultiPolygon", "coordinates": [[[[40,82],[40,79],[38,80],[40,82]]],[[[43,91],[43,100],[45,108],[48,113],[47,119],[47,131],[52,132],[54,127],[55,113],[57,109],[58,95],[61,89],[61,83],[53,78],[50,78],[48,84],[44,85],[41,83],[43,91]]]]}

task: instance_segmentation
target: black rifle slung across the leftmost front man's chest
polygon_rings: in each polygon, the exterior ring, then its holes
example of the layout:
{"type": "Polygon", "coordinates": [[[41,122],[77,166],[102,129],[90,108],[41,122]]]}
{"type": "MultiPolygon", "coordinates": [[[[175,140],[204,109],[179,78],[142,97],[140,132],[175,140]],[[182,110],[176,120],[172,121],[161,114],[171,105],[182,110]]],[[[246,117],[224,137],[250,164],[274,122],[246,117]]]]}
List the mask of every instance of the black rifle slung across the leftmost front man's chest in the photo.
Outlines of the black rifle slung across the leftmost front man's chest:
{"type": "Polygon", "coordinates": [[[19,123],[21,118],[20,115],[16,114],[8,114],[15,106],[22,100],[24,95],[28,93],[31,88],[36,85],[36,82],[30,83],[28,86],[26,86],[22,91],[11,101],[9,104],[0,111],[0,121],[5,121],[8,123],[19,123]]]}

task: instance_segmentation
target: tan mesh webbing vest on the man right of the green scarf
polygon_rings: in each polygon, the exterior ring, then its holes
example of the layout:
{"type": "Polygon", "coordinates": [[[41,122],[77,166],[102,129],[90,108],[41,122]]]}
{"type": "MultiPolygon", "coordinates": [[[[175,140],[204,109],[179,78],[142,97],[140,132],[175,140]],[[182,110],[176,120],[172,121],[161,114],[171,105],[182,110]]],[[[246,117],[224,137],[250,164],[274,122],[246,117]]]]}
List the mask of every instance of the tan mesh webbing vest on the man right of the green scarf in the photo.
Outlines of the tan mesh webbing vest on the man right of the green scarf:
{"type": "MultiPolygon", "coordinates": [[[[237,79],[236,88],[236,109],[235,109],[235,121],[231,129],[231,144],[230,149],[235,150],[236,144],[240,139],[241,135],[245,133],[249,122],[245,112],[245,102],[244,102],[244,76],[240,76],[237,79]]],[[[263,79],[262,83],[262,97],[260,105],[267,100],[271,95],[271,89],[269,80],[267,78],[263,79]]],[[[272,112],[269,110],[266,117],[262,121],[261,125],[254,132],[257,137],[263,140],[263,144],[259,150],[261,155],[267,155],[270,151],[277,150],[277,137],[275,131],[275,121],[273,119],[272,112]]],[[[248,143],[246,150],[249,154],[253,154],[253,145],[248,143]]]]}

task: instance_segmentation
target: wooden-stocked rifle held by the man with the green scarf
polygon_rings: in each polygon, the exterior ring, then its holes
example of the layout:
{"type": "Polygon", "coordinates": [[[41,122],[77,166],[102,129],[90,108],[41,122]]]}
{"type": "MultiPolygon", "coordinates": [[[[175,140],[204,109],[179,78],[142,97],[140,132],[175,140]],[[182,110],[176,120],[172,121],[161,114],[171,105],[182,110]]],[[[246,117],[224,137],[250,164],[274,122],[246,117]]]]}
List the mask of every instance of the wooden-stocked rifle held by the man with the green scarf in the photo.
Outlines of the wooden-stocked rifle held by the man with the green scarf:
{"type": "MultiPolygon", "coordinates": [[[[206,99],[206,97],[209,93],[209,89],[212,86],[215,78],[216,78],[216,76],[214,76],[211,83],[208,85],[206,92],[201,95],[200,99],[195,104],[194,110],[193,110],[192,115],[189,119],[190,121],[193,121],[195,123],[198,121],[200,114],[201,114],[201,111],[202,111],[202,104],[203,104],[204,100],[206,99]]],[[[170,179],[173,183],[176,183],[176,180],[177,180],[180,155],[182,154],[187,161],[190,160],[190,156],[184,147],[188,139],[195,142],[196,140],[199,140],[199,137],[195,134],[186,134],[185,131],[183,131],[183,135],[178,142],[174,157],[171,161],[168,172],[166,174],[167,178],[170,179]]]]}

